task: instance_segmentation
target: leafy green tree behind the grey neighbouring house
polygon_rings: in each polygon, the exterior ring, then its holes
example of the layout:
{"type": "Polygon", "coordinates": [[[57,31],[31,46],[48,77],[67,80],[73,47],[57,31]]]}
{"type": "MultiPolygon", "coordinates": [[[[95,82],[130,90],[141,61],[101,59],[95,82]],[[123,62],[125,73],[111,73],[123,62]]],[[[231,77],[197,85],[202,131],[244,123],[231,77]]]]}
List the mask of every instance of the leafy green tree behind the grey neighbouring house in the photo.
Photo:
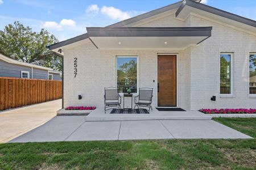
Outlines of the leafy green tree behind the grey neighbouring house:
{"type": "Polygon", "coordinates": [[[18,61],[62,70],[61,56],[48,49],[46,45],[58,42],[54,35],[41,29],[32,31],[19,22],[6,25],[0,30],[0,49],[3,54],[18,61]]]}

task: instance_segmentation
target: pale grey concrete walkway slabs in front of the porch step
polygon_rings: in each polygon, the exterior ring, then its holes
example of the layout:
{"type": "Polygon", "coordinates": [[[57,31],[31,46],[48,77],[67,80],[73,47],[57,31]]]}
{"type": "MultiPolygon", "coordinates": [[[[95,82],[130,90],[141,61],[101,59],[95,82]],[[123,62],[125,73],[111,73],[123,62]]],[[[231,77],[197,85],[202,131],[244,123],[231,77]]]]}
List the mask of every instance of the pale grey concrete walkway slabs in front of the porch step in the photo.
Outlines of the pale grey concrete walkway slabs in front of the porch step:
{"type": "Polygon", "coordinates": [[[11,142],[102,141],[130,139],[251,138],[212,120],[88,122],[86,116],[56,116],[11,142]]]}

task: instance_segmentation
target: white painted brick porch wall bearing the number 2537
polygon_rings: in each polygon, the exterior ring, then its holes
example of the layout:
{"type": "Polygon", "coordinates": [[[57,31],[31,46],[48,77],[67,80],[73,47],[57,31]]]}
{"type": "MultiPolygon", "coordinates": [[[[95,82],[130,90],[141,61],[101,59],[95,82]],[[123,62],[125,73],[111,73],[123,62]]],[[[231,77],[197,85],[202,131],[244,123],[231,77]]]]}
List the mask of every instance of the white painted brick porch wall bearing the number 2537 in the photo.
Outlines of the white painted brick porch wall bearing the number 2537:
{"type": "MultiPolygon", "coordinates": [[[[158,53],[179,53],[179,70],[185,70],[183,52],[168,50],[99,50],[91,42],[73,49],[64,49],[64,107],[78,105],[95,105],[104,107],[104,87],[116,87],[115,57],[116,56],[139,56],[139,87],[154,88],[152,105],[156,105],[157,92],[157,55],[158,53]],[[73,61],[77,57],[76,78],[73,75],[73,61]],[[184,67],[182,69],[182,67],[184,67]],[[153,82],[155,80],[155,83],[153,82]],[[78,95],[82,99],[78,100],[78,95]]],[[[183,74],[179,75],[181,83],[183,74]]],[[[186,78],[187,79],[187,78],[186,78]]],[[[184,87],[180,87],[181,89],[184,87]]],[[[178,92],[181,101],[183,95],[178,92]]],[[[123,100],[123,99],[122,99],[123,100]]],[[[130,103],[130,99],[126,99],[130,103]]],[[[182,99],[182,101],[184,101],[182,99]]],[[[184,108],[187,108],[184,104],[184,108]]]]}

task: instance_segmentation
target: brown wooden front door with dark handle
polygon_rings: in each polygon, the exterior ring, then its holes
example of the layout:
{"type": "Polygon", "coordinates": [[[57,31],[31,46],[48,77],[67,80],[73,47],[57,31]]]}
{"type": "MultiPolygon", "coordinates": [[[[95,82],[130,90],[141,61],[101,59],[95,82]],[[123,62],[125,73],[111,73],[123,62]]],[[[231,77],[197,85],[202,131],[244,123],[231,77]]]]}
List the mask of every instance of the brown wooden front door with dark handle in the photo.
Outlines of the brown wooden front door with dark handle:
{"type": "Polygon", "coordinates": [[[158,106],[176,107],[176,56],[158,56],[158,106]]]}

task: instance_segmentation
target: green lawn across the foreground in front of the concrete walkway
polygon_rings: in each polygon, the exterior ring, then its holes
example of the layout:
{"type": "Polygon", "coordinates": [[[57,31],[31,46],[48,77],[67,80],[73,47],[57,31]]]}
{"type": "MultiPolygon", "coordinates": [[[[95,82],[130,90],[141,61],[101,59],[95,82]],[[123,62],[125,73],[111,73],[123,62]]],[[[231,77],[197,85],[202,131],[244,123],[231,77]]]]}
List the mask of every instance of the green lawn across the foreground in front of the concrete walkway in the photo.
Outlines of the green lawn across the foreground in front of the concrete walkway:
{"type": "MultiPolygon", "coordinates": [[[[214,120],[255,135],[256,119],[214,120]]],[[[256,139],[5,143],[0,169],[256,169],[256,139]]]]}

